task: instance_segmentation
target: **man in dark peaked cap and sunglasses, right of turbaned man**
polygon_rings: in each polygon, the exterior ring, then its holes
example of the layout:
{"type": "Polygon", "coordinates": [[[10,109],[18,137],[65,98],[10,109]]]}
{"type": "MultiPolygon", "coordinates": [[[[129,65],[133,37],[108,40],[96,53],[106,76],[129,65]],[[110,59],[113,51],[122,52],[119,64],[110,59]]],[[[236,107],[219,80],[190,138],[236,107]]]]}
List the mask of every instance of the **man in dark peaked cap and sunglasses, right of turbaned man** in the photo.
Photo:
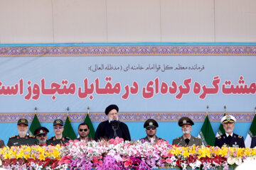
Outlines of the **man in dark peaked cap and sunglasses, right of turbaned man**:
{"type": "Polygon", "coordinates": [[[156,137],[156,128],[158,128],[159,125],[154,119],[148,119],[144,123],[144,128],[146,128],[146,137],[140,139],[142,143],[144,142],[157,142],[158,140],[162,140],[159,137],[156,137]]]}

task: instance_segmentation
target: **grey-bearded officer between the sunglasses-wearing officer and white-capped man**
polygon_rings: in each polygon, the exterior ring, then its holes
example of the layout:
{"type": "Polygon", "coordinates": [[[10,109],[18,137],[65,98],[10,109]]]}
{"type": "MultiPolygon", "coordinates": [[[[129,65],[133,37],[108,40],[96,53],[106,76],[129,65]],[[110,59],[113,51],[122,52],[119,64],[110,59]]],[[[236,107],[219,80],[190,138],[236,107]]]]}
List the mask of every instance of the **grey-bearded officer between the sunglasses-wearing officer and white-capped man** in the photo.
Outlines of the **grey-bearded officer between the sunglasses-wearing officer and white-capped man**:
{"type": "Polygon", "coordinates": [[[178,125],[181,126],[181,130],[183,135],[181,137],[177,137],[173,140],[173,145],[178,145],[182,147],[192,146],[192,145],[202,145],[202,140],[198,137],[193,137],[191,135],[192,125],[194,125],[193,121],[188,117],[182,117],[178,120],[178,125]]]}

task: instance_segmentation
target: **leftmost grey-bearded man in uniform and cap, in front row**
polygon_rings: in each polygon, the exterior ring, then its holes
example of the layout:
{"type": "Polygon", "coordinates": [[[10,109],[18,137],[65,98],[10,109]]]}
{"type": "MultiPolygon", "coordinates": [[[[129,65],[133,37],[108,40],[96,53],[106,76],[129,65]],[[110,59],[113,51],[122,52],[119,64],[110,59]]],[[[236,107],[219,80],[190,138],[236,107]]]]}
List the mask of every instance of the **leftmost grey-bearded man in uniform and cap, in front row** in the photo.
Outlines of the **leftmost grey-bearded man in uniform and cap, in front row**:
{"type": "Polygon", "coordinates": [[[7,143],[8,147],[21,145],[36,145],[36,138],[26,135],[28,132],[28,120],[21,118],[17,123],[18,135],[10,137],[7,143]]]}

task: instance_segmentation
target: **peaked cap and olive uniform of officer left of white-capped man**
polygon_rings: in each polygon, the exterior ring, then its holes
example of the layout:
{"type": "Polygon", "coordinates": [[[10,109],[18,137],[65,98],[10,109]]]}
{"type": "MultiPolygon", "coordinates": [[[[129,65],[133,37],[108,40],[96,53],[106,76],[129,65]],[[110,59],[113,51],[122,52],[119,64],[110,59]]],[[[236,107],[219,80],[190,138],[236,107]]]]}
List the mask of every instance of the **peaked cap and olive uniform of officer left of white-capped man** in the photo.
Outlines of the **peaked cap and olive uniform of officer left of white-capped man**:
{"type": "MultiPolygon", "coordinates": [[[[188,117],[182,117],[178,120],[178,125],[183,126],[183,125],[194,125],[193,120],[191,120],[188,117]]],[[[192,145],[202,145],[202,140],[198,137],[191,137],[189,139],[185,139],[183,135],[181,137],[177,137],[176,139],[173,140],[172,145],[178,145],[182,147],[186,146],[192,146],[192,145]]]]}

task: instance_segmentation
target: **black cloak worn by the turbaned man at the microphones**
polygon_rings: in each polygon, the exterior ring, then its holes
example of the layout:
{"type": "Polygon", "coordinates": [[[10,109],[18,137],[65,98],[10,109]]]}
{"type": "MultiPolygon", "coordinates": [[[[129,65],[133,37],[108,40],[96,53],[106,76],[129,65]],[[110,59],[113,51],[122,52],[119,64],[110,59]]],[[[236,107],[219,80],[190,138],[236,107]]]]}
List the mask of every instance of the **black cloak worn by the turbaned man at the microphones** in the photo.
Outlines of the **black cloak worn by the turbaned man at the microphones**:
{"type": "MultiPolygon", "coordinates": [[[[129,129],[125,123],[119,122],[119,128],[116,132],[118,137],[122,137],[124,140],[131,140],[129,129]]],[[[109,120],[100,123],[97,127],[95,141],[100,140],[101,138],[107,138],[107,140],[114,138],[114,130],[112,129],[109,120]]]]}

